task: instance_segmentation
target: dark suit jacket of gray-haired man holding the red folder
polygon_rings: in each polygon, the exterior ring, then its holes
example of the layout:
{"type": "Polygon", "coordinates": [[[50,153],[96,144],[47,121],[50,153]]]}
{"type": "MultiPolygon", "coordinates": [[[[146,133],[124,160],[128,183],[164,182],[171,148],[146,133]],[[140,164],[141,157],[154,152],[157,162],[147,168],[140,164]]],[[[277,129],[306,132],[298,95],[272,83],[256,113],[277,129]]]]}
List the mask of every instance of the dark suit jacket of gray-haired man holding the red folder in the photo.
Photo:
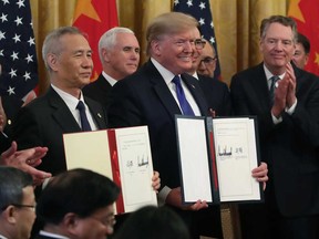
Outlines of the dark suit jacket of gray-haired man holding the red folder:
{"type": "MultiPolygon", "coordinates": [[[[89,97],[84,97],[84,101],[97,127],[106,128],[106,112],[102,105],[89,97]]],[[[66,169],[62,135],[74,132],[81,132],[81,128],[64,101],[52,87],[44,96],[22,107],[13,124],[13,138],[19,149],[34,146],[49,148],[39,168],[53,175],[66,169]]]]}

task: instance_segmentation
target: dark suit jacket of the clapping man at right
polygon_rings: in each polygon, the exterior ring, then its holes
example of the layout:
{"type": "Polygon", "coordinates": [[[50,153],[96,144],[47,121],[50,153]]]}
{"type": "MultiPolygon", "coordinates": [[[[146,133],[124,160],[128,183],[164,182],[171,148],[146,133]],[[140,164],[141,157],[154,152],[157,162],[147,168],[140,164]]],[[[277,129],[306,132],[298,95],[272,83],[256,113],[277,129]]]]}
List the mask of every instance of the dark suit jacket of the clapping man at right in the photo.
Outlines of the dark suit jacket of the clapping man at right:
{"type": "Polygon", "coordinates": [[[235,114],[257,115],[261,159],[268,163],[279,210],[287,217],[319,214],[319,79],[294,70],[298,104],[278,125],[272,123],[263,63],[234,75],[230,83],[235,114]]]}

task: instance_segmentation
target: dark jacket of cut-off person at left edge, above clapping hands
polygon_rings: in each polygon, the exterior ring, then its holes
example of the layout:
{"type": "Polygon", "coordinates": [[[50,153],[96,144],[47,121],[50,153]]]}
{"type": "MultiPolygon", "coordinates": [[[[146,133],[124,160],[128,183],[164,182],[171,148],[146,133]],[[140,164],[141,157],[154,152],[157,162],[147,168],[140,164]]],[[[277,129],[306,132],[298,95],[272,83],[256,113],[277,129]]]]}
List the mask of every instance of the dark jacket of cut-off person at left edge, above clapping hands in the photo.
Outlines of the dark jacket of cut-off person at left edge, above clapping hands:
{"type": "Polygon", "coordinates": [[[0,154],[7,150],[11,145],[12,124],[14,122],[16,115],[18,114],[20,107],[23,104],[23,101],[21,101],[20,98],[8,95],[2,95],[1,102],[7,116],[7,124],[3,133],[8,137],[0,133],[0,154]]]}

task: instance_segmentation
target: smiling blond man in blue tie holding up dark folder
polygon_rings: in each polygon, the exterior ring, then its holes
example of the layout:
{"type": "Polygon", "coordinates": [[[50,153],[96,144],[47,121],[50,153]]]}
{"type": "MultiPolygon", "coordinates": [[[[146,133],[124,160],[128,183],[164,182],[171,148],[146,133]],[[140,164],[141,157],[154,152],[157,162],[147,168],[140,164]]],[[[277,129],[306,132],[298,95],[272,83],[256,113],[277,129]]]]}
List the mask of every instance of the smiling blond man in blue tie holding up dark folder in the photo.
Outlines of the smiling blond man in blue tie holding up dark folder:
{"type": "MultiPolygon", "coordinates": [[[[193,238],[199,237],[194,214],[207,208],[207,204],[200,198],[192,206],[182,204],[174,118],[175,114],[183,114],[185,101],[179,103],[176,87],[181,93],[181,85],[172,80],[182,79],[187,114],[205,116],[208,106],[198,81],[185,74],[192,67],[194,49],[203,48],[202,39],[194,38],[197,24],[193,17],[177,12],[155,18],[146,30],[151,59],[137,72],[114,85],[109,107],[111,127],[148,126],[153,165],[160,172],[163,185],[160,199],[185,219],[193,238]]],[[[259,167],[255,176],[265,180],[267,167],[259,167]]]]}

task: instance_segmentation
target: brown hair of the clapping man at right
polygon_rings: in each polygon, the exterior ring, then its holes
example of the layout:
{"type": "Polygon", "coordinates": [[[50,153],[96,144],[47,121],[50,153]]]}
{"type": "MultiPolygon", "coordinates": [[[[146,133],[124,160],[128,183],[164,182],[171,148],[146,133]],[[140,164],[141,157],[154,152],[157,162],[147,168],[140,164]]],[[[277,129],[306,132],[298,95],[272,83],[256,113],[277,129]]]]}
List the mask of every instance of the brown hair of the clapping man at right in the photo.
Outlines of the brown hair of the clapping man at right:
{"type": "Polygon", "coordinates": [[[297,41],[297,23],[292,18],[285,15],[271,15],[270,18],[264,19],[260,24],[260,39],[266,37],[266,32],[271,23],[280,23],[285,27],[290,27],[294,34],[292,41],[297,41]]]}

